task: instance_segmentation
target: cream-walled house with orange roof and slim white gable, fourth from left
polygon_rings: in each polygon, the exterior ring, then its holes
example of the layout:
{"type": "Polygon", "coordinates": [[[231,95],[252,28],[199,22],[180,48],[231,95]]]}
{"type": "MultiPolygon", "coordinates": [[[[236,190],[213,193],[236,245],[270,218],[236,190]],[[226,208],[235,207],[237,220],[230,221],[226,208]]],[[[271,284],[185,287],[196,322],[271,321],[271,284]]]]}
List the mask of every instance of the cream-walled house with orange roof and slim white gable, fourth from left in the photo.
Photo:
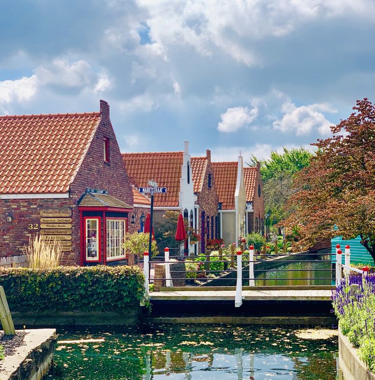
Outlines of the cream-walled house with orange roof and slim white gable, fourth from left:
{"type": "Polygon", "coordinates": [[[219,195],[219,229],[225,245],[238,243],[238,236],[245,235],[246,191],[244,163],[241,154],[238,161],[212,162],[216,189],[219,195]]]}

